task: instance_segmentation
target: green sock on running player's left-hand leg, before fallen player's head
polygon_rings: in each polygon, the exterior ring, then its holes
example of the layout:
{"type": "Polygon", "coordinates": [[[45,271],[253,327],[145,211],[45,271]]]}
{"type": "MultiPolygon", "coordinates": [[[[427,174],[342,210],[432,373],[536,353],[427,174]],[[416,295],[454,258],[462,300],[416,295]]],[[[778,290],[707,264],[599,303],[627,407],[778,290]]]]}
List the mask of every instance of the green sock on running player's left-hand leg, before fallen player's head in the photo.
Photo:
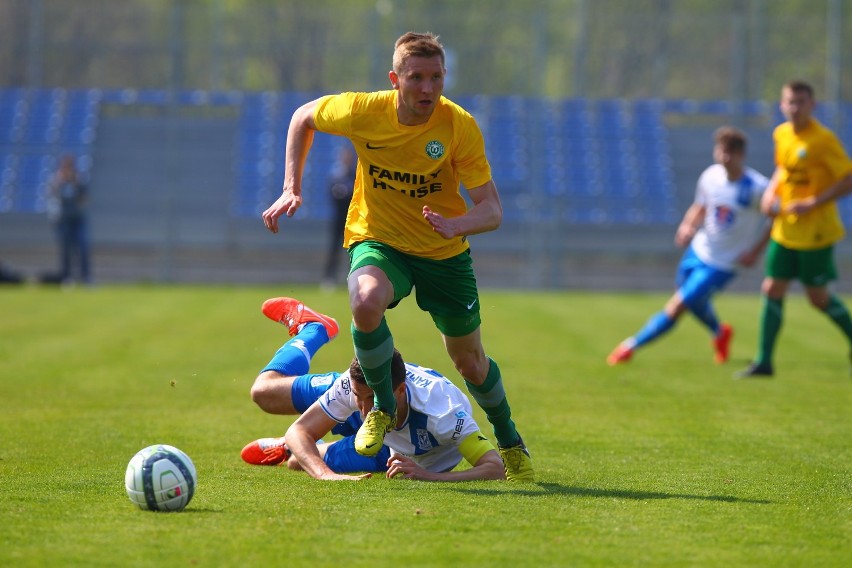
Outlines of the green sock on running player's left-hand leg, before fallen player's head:
{"type": "Polygon", "coordinates": [[[352,324],[352,342],[355,344],[355,357],[364,371],[367,386],[373,389],[373,404],[391,414],[396,412],[396,398],[393,396],[391,380],[391,358],[393,357],[393,336],[387,320],[375,330],[364,333],[352,324]]]}

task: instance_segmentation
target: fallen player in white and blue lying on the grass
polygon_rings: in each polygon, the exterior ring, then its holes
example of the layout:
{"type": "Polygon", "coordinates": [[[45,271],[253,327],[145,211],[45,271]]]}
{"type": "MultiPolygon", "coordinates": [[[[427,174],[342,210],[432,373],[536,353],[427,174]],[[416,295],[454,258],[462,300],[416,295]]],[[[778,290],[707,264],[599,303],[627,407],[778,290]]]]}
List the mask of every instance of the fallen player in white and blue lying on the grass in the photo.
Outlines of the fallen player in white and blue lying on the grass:
{"type": "Polygon", "coordinates": [[[400,408],[398,423],[375,456],[355,451],[354,435],[361,417],[373,405],[357,359],[343,373],[308,374],[310,360],[337,335],[337,323],[293,298],[272,298],[263,313],[286,325],[287,341],[258,375],[252,399],[277,414],[302,414],[280,438],[261,438],[246,445],[241,456],[255,465],[287,462],[317,479],[361,479],[345,473],[387,472],[429,481],[504,479],[503,462],[479,430],[470,401],[437,371],[404,363],[394,351],[394,396],[400,408]],[[318,443],[327,434],[343,439],[318,443]],[[471,465],[451,471],[462,460],[471,465]]]}

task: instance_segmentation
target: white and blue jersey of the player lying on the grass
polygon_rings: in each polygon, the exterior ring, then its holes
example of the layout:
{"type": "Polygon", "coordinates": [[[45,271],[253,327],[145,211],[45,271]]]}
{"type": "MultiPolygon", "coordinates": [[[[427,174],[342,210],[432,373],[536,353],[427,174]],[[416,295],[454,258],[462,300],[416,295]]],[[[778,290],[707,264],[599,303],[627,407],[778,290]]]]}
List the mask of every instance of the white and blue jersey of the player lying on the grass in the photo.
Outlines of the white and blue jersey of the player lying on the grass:
{"type": "MultiPolygon", "coordinates": [[[[388,432],[385,445],[393,454],[404,454],[429,471],[450,471],[462,460],[459,444],[479,432],[470,401],[449,379],[437,371],[405,364],[408,416],[399,428],[388,432]]],[[[319,398],[333,420],[345,423],[358,412],[349,372],[334,378],[319,398]]]]}

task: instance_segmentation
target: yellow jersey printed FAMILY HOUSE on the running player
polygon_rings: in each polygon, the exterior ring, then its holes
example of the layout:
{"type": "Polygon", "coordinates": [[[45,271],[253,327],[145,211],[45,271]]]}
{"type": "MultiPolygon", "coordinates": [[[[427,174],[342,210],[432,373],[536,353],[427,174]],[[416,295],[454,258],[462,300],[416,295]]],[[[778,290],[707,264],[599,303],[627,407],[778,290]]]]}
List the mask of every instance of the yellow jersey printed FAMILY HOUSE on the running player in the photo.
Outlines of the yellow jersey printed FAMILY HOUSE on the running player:
{"type": "Polygon", "coordinates": [[[425,124],[402,125],[396,100],[395,89],[341,93],[322,97],[314,111],[317,130],[349,138],[358,154],[343,245],[376,240],[406,254],[450,258],[468,249],[467,238],[436,233],[423,206],[448,218],[467,211],[461,184],[491,179],[482,132],[445,97],[425,124]]]}

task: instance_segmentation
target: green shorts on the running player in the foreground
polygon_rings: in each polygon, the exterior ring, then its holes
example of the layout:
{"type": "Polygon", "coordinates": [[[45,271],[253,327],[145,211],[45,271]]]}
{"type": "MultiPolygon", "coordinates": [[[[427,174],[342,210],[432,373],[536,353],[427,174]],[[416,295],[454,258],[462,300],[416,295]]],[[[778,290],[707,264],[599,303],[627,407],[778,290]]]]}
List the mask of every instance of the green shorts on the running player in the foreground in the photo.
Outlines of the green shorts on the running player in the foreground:
{"type": "Polygon", "coordinates": [[[413,288],[417,305],[429,312],[444,335],[461,337],[479,327],[479,293],[470,251],[432,260],[399,252],[377,241],[362,241],[349,249],[349,273],[363,266],[380,268],[393,284],[389,309],[411,294],[413,288]]]}

